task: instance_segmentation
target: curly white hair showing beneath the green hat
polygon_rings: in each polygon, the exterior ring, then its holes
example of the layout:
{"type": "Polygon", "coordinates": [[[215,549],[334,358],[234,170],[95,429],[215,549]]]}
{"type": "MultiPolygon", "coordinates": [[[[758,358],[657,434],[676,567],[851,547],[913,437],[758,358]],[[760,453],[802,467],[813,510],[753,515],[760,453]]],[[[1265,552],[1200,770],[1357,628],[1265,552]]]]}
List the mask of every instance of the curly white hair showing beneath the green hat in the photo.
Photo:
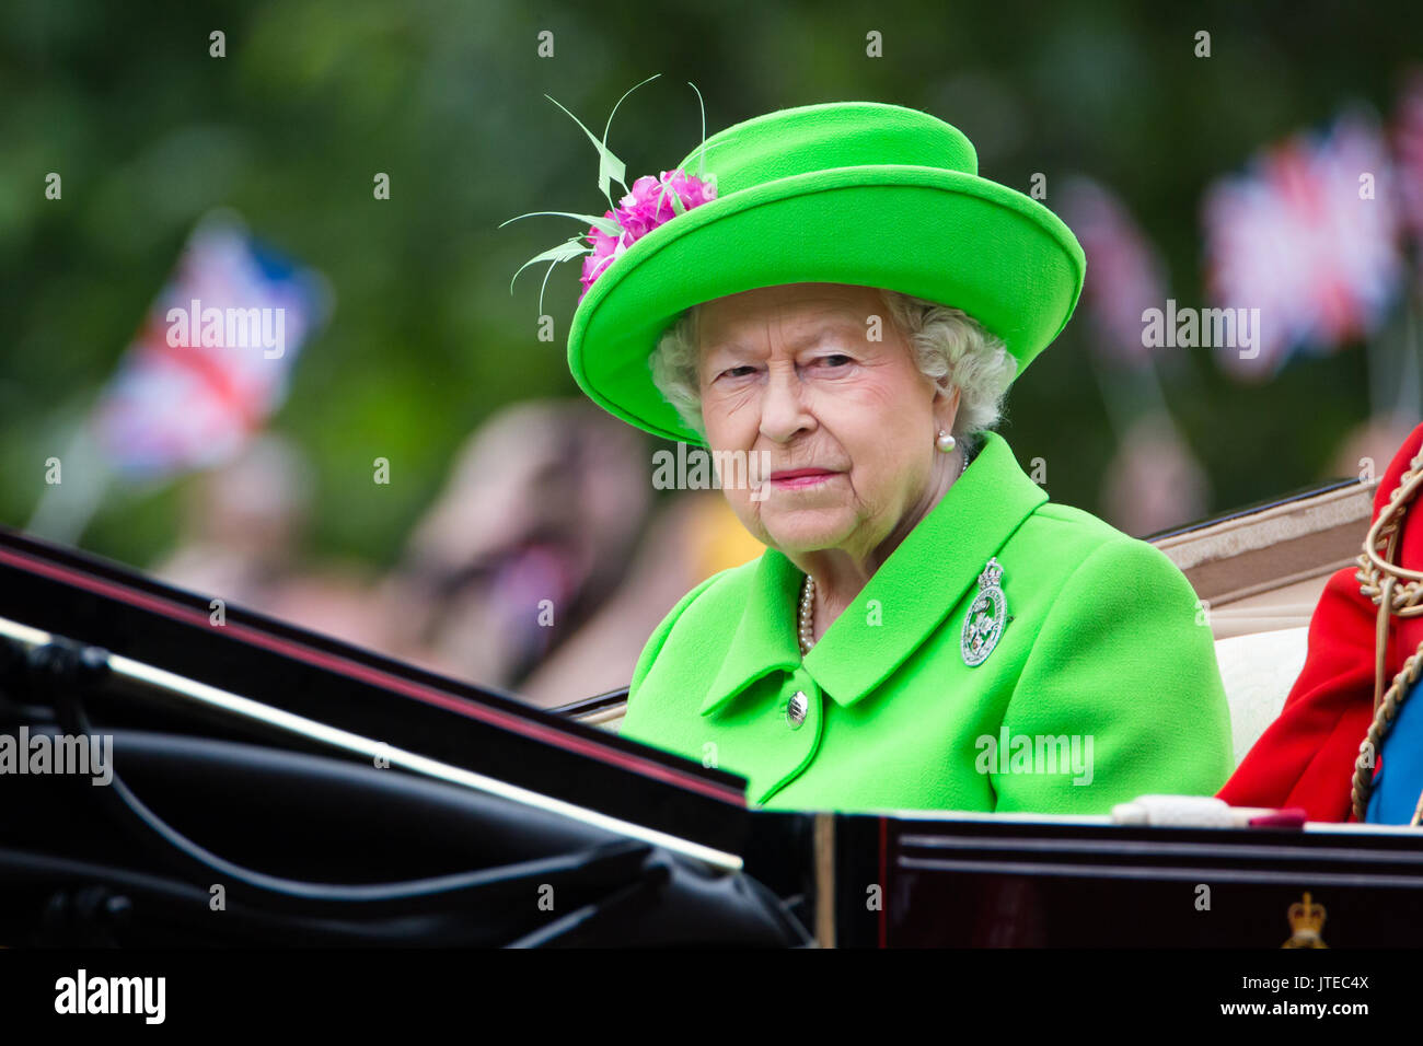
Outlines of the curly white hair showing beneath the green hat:
{"type": "MultiPolygon", "coordinates": [[[[978,434],[996,426],[1003,413],[1003,396],[1017,374],[1017,360],[1003,342],[989,334],[962,309],[879,290],[895,326],[909,340],[914,361],[929,379],[948,379],[959,389],[959,410],[953,417],[953,438],[966,450],[978,434]]],[[[702,421],[702,383],[697,376],[697,307],[684,310],[657,339],[647,363],[652,380],[682,420],[706,438],[702,421]]]]}

